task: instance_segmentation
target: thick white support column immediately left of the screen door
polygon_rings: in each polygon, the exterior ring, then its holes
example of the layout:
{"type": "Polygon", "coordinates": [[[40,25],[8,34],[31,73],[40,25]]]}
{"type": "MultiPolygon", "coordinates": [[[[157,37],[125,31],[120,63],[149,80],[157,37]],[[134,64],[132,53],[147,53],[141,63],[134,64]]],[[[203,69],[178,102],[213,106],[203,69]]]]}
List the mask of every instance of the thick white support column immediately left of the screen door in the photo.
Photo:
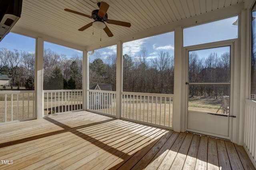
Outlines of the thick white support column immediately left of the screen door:
{"type": "Polygon", "coordinates": [[[185,102],[185,93],[183,86],[183,70],[184,62],[183,49],[183,29],[177,27],[174,30],[174,109],[172,113],[173,130],[176,132],[184,131],[184,107],[182,103],[185,102]],[[183,118],[182,118],[183,117],[183,118]]]}

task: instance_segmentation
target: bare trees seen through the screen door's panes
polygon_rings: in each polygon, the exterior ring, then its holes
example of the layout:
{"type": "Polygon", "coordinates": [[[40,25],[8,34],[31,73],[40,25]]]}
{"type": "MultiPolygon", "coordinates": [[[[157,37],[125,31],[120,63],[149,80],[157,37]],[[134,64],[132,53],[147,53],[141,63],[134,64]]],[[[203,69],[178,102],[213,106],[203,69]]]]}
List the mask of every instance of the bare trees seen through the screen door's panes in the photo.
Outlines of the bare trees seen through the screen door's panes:
{"type": "MultiPolygon", "coordinates": [[[[230,53],[218,56],[210,53],[200,58],[196,51],[189,53],[189,83],[230,83],[230,53]]],[[[189,95],[214,97],[229,95],[229,85],[189,85],[189,95]]]]}

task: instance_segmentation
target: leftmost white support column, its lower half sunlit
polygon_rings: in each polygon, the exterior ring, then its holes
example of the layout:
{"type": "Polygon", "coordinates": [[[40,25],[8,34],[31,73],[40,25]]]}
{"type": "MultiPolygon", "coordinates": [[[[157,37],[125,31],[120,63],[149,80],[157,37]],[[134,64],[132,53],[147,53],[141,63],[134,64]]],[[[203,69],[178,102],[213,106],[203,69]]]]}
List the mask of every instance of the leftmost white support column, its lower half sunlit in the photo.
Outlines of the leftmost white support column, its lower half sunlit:
{"type": "Polygon", "coordinates": [[[36,91],[36,118],[44,116],[44,93],[43,93],[43,65],[44,65],[44,40],[36,38],[35,58],[35,91],[36,91]]]}

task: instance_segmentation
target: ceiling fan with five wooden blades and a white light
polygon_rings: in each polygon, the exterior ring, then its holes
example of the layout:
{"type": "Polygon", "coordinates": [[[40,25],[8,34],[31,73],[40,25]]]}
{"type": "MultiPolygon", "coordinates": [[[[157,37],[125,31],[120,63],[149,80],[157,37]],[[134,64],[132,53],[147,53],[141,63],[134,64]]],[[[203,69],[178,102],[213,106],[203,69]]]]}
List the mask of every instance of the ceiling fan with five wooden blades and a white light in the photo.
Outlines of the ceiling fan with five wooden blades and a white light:
{"type": "Polygon", "coordinates": [[[87,15],[87,14],[83,14],[74,10],[70,10],[70,9],[64,9],[65,11],[68,12],[72,12],[74,14],[78,14],[78,15],[82,15],[82,16],[86,16],[88,18],[92,18],[95,21],[91,22],[85,26],[83,26],[82,28],[78,29],[79,31],[84,31],[87,28],[89,28],[90,26],[94,26],[96,28],[99,29],[103,29],[106,34],[108,35],[108,37],[112,37],[114,36],[112,34],[112,32],[109,30],[108,26],[106,26],[105,22],[107,22],[108,24],[114,24],[114,25],[118,25],[118,26],[125,26],[125,27],[130,27],[131,24],[129,22],[123,22],[123,21],[117,21],[117,20],[108,20],[108,14],[107,14],[107,10],[109,8],[109,5],[106,2],[98,2],[97,3],[98,7],[100,8],[99,10],[93,10],[92,11],[92,16],[87,15]]]}

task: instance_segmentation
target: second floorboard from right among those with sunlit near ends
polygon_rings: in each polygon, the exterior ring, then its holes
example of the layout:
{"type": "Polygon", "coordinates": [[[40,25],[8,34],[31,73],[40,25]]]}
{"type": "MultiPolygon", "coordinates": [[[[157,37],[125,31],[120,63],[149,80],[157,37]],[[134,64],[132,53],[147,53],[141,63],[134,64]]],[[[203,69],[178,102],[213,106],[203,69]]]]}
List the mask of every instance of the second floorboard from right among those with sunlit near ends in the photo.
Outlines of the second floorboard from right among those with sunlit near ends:
{"type": "Polygon", "coordinates": [[[196,157],[196,169],[206,170],[207,169],[207,146],[208,137],[201,136],[198,153],[196,157]]]}

